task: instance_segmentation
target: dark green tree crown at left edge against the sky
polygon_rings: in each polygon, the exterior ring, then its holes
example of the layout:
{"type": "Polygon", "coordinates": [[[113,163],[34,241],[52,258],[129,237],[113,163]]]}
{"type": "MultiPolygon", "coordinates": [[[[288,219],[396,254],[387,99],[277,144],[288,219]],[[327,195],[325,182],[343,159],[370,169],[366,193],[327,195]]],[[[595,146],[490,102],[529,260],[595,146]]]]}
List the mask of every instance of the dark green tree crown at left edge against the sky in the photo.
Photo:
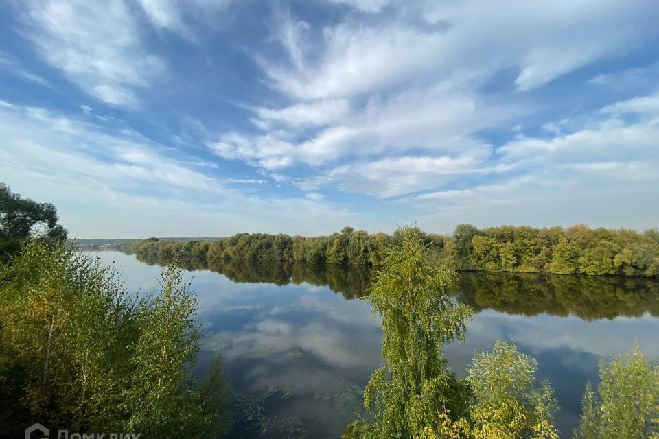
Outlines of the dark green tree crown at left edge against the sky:
{"type": "Polygon", "coordinates": [[[67,231],[57,222],[55,206],[21,198],[0,182],[0,263],[19,252],[27,238],[65,240],[67,231]]]}

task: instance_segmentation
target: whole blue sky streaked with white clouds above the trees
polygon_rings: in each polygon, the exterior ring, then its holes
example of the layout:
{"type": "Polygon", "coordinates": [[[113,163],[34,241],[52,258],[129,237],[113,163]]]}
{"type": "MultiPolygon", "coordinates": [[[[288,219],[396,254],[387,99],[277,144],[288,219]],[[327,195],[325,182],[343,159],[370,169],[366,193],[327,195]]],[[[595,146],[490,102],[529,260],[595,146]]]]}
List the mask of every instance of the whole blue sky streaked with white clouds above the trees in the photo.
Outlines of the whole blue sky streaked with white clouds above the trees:
{"type": "Polygon", "coordinates": [[[0,0],[0,181],[71,237],[659,226],[656,0],[0,0]]]}

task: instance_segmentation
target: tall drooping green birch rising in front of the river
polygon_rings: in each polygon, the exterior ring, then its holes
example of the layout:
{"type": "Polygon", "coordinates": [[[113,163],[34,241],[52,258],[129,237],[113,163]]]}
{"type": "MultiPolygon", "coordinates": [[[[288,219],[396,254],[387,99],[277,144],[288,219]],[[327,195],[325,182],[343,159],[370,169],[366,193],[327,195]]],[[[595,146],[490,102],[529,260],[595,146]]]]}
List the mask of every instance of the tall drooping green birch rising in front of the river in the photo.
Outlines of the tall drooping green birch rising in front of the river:
{"type": "Polygon", "coordinates": [[[364,394],[372,419],[349,425],[344,438],[413,438],[425,427],[466,415],[469,385],[450,371],[443,346],[463,340],[472,311],[450,298],[455,273],[428,263],[421,231],[406,226],[400,245],[386,250],[371,285],[373,313],[382,318],[384,364],[364,394]]]}

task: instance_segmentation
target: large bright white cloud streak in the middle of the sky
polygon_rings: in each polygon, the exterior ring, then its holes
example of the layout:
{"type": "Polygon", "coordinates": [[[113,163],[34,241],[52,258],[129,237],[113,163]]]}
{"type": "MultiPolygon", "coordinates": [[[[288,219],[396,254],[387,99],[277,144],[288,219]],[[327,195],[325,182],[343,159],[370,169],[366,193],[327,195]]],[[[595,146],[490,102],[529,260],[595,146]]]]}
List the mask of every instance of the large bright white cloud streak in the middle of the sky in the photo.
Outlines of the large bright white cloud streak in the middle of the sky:
{"type": "MultiPolygon", "coordinates": [[[[321,126],[303,141],[290,139],[296,136],[297,128],[283,128],[258,135],[222,134],[217,141],[209,143],[209,147],[222,158],[270,170],[295,163],[327,167],[345,158],[363,161],[380,154],[397,155],[409,150],[431,151],[432,156],[465,154],[483,148],[483,141],[470,137],[470,132],[527,111],[522,106],[486,107],[473,95],[452,95],[446,87],[446,84],[439,84],[386,99],[373,98],[360,110],[350,110],[345,115],[343,112],[347,109],[343,100],[296,104],[262,116],[286,120],[290,125],[311,121],[329,123],[330,119],[334,123],[321,126]]],[[[400,191],[403,193],[404,189],[400,191]]]]}

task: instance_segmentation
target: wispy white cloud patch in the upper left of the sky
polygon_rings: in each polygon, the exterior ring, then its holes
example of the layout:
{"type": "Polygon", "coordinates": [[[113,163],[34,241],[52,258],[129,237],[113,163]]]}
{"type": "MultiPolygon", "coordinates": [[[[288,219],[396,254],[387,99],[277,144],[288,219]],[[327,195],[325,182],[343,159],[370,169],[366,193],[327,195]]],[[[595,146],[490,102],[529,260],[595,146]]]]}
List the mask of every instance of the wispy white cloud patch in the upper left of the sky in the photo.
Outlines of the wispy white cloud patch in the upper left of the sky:
{"type": "Polygon", "coordinates": [[[135,16],[121,0],[25,4],[27,35],[41,58],[107,104],[137,106],[137,89],[165,72],[165,62],[144,49],[135,16]]]}

